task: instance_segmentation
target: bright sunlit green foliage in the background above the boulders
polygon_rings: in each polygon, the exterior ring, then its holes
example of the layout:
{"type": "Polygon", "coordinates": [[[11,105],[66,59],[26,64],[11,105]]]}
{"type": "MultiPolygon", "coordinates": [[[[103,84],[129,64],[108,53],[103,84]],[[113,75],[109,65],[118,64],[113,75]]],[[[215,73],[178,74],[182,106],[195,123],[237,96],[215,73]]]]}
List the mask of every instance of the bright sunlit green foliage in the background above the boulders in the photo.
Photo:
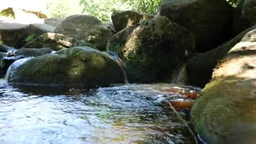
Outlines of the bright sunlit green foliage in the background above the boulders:
{"type": "MultiPolygon", "coordinates": [[[[65,18],[72,14],[84,13],[95,16],[101,21],[109,21],[114,10],[156,14],[160,3],[164,0],[40,0],[40,3],[43,3],[42,1],[45,3],[42,7],[45,7],[49,18],[65,18]]],[[[236,7],[244,0],[227,1],[236,7]]],[[[8,10],[0,12],[0,16],[8,16],[8,10]]]]}

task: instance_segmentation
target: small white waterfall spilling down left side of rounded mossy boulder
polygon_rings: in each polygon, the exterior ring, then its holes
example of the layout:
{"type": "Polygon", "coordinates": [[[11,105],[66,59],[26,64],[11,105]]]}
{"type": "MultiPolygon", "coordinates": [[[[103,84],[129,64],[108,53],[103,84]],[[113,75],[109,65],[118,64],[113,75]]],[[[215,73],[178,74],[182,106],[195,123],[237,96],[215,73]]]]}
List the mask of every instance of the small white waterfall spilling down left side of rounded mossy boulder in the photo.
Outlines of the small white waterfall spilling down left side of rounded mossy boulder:
{"type": "Polygon", "coordinates": [[[31,59],[32,57],[27,57],[24,59],[19,59],[17,61],[14,61],[11,66],[8,68],[4,80],[6,80],[8,82],[9,77],[13,77],[13,73],[14,71],[21,65],[24,64],[26,61],[28,61],[29,59],[31,59]]]}

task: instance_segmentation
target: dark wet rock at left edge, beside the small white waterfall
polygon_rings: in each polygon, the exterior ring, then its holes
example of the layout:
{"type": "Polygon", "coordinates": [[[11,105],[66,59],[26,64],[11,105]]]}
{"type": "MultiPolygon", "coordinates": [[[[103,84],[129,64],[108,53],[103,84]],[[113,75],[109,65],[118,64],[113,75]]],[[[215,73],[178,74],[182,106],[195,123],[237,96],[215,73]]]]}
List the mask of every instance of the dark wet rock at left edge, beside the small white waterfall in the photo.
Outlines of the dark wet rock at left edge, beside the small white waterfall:
{"type": "Polygon", "coordinates": [[[8,70],[8,68],[11,66],[11,64],[14,61],[17,61],[19,59],[23,59],[24,56],[11,56],[11,57],[7,57],[7,56],[3,56],[0,58],[0,78],[5,77],[5,74],[8,70]]]}

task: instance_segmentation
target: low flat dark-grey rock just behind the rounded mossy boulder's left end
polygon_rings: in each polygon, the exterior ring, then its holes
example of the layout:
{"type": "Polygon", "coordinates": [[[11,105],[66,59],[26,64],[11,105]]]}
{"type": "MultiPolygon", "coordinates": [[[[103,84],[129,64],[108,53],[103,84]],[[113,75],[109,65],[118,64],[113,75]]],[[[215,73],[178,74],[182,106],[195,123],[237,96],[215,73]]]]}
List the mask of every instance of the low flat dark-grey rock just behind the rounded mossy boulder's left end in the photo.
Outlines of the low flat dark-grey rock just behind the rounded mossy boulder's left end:
{"type": "Polygon", "coordinates": [[[14,52],[15,56],[42,56],[47,53],[52,53],[51,48],[21,48],[14,52]]]}

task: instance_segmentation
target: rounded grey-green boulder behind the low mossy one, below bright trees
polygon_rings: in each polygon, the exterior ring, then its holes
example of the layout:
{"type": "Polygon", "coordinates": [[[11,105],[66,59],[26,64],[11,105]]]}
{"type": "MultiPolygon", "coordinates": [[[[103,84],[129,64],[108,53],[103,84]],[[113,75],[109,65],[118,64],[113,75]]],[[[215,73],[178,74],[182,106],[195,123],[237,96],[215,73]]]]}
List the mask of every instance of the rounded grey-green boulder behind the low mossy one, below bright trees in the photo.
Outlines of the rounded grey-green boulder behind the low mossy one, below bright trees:
{"type": "Polygon", "coordinates": [[[72,15],[64,19],[55,29],[55,33],[84,40],[101,51],[106,50],[107,41],[114,33],[99,19],[88,15],[72,15]]]}

